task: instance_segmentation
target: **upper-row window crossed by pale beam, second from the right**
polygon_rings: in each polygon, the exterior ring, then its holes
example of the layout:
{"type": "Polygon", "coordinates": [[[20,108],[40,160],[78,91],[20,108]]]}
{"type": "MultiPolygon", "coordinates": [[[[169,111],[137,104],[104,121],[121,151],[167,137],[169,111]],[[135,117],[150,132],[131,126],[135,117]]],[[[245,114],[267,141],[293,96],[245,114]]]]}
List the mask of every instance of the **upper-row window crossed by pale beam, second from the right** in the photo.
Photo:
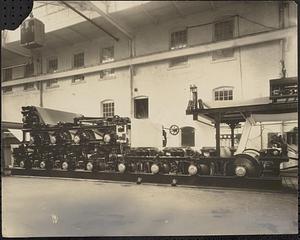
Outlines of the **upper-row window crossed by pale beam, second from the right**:
{"type": "MultiPolygon", "coordinates": [[[[187,46],[187,31],[177,31],[171,33],[171,42],[170,42],[170,49],[176,50],[185,48],[187,46]]],[[[178,57],[173,58],[170,60],[170,67],[185,65],[188,61],[188,57],[178,57]]]]}

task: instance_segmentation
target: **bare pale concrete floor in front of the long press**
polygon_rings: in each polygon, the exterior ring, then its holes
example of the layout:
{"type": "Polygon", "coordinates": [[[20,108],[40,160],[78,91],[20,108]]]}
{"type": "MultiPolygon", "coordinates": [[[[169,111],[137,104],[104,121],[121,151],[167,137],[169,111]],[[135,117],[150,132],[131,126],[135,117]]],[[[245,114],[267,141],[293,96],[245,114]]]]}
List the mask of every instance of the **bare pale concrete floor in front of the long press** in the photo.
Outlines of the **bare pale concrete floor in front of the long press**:
{"type": "Polygon", "coordinates": [[[295,234],[296,194],[2,177],[6,237],[295,234]]]}

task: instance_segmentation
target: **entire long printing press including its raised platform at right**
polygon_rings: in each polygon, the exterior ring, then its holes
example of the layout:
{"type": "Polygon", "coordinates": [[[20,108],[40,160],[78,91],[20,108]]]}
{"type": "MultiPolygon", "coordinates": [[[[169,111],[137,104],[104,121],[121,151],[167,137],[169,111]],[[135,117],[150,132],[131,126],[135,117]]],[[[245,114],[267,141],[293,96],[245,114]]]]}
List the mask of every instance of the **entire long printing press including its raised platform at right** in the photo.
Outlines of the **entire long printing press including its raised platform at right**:
{"type": "MultiPolygon", "coordinates": [[[[120,181],[169,182],[176,185],[280,185],[280,163],[289,161],[287,144],[281,136],[267,149],[246,149],[251,122],[272,115],[282,119],[297,112],[295,101],[258,105],[205,108],[191,87],[192,100],[186,114],[211,119],[216,128],[216,147],[191,148],[130,147],[129,118],[91,118],[34,106],[22,108],[23,143],[13,150],[14,172],[30,175],[72,176],[120,181]],[[279,115],[278,115],[279,114],[279,115]],[[234,129],[245,122],[243,134],[231,156],[220,155],[220,124],[234,129]],[[25,171],[25,172],[24,172],[25,171]],[[62,173],[69,175],[61,175],[62,173]],[[79,174],[80,172],[80,174],[79,174]],[[84,172],[84,174],[83,174],[84,172]],[[88,175],[90,173],[90,175],[88,175]]],[[[294,94],[294,93],[293,93],[294,94]]],[[[169,128],[177,134],[176,125],[169,128]]],[[[164,134],[163,134],[164,135],[164,134]]],[[[146,137],[146,136],[145,136],[146,137]]],[[[234,141],[232,141],[232,147],[234,141]]]]}

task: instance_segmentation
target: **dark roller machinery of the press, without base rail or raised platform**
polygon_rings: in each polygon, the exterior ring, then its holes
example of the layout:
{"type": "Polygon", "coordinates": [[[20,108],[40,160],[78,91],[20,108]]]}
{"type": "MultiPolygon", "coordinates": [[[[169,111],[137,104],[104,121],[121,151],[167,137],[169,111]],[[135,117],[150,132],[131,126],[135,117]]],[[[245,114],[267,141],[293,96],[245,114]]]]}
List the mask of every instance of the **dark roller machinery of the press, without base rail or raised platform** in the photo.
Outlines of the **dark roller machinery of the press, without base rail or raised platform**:
{"type": "MultiPolygon", "coordinates": [[[[214,148],[130,147],[129,118],[84,117],[34,106],[22,108],[24,141],[13,150],[14,167],[45,171],[113,172],[169,176],[279,176],[279,164],[288,161],[286,144],[274,138],[276,148],[220,157],[214,148]],[[46,117],[48,119],[46,119],[46,117]],[[76,116],[73,121],[66,121],[76,116]],[[52,124],[49,124],[52,122],[52,124]]],[[[173,128],[172,128],[173,129],[173,128]]],[[[175,129],[175,128],[174,128],[175,129]]],[[[176,129],[175,129],[176,130],[176,129]]],[[[50,172],[49,172],[50,174],[50,172]]]]}

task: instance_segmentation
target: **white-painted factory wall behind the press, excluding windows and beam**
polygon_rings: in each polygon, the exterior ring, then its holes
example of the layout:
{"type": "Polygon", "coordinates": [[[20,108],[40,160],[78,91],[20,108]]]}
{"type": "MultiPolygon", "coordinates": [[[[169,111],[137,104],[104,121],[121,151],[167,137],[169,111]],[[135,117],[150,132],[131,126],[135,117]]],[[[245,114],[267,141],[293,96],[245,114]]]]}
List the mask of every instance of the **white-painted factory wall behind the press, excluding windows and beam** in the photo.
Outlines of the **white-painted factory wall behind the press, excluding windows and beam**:
{"type": "MultiPolygon", "coordinates": [[[[172,31],[232,15],[240,15],[269,27],[278,27],[277,2],[244,4],[237,5],[235,9],[230,9],[227,4],[224,8],[215,11],[202,12],[159,25],[145,26],[136,32],[136,55],[169,50],[172,31]],[[245,7],[244,4],[249,7],[245,7]]],[[[241,17],[239,21],[238,18],[236,19],[237,35],[266,30],[270,29],[250,23],[241,17]]],[[[189,46],[212,40],[213,25],[211,24],[188,30],[189,46]]],[[[182,66],[170,67],[169,61],[160,61],[134,67],[133,97],[148,97],[149,118],[133,120],[133,145],[161,146],[161,141],[157,139],[161,139],[162,126],[168,128],[176,124],[180,128],[185,126],[195,128],[196,148],[213,146],[214,128],[193,121],[192,116],[185,114],[190,99],[190,85],[195,84],[198,87],[199,98],[207,103],[214,102],[213,90],[222,86],[233,87],[233,101],[268,97],[269,80],[280,77],[282,49],[288,76],[297,75],[296,40],[296,37],[289,38],[283,47],[279,41],[273,41],[236,48],[234,56],[226,59],[213,60],[211,53],[205,53],[189,56],[188,62],[182,66]],[[139,140],[141,134],[143,140],[139,140]],[[150,137],[152,135],[153,137],[150,137]]],[[[114,43],[108,38],[97,38],[73,46],[60,46],[42,51],[43,72],[46,72],[47,58],[52,56],[58,56],[59,71],[71,69],[72,56],[80,51],[85,53],[85,65],[97,65],[100,62],[100,49],[110,45],[114,45],[115,60],[129,57],[129,45],[126,39],[114,43]]],[[[77,84],[71,83],[72,77],[59,79],[59,86],[53,88],[46,88],[44,83],[43,106],[78,112],[86,116],[99,116],[101,101],[112,99],[115,102],[115,114],[130,117],[129,69],[116,69],[115,72],[115,76],[109,79],[100,79],[99,73],[89,74],[85,76],[83,82],[77,84]]],[[[14,87],[13,93],[3,94],[2,98],[5,102],[2,108],[3,120],[13,122],[21,121],[21,106],[39,105],[40,99],[39,90],[25,92],[23,86],[14,87]]],[[[168,146],[180,145],[180,134],[177,136],[168,134],[168,146]]]]}

